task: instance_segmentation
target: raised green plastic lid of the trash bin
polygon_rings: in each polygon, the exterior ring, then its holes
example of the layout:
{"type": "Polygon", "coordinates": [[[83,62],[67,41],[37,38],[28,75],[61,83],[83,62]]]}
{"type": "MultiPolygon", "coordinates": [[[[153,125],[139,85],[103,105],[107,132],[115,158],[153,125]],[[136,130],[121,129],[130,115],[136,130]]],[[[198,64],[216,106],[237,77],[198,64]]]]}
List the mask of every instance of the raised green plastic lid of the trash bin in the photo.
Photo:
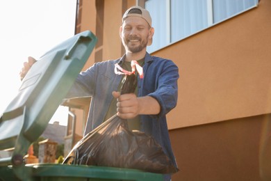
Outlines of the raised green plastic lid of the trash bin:
{"type": "Polygon", "coordinates": [[[33,64],[0,118],[0,150],[15,147],[17,154],[27,152],[44,132],[96,42],[92,32],[84,31],[49,50],[33,64]]]}

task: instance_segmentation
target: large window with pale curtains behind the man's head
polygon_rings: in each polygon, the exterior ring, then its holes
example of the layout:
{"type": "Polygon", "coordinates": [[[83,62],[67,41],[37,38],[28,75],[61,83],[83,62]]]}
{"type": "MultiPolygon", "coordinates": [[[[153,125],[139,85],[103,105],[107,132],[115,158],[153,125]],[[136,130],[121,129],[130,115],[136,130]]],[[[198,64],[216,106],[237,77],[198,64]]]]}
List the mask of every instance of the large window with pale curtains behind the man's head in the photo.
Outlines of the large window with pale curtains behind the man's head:
{"type": "Polygon", "coordinates": [[[147,52],[191,36],[257,4],[258,0],[145,0],[155,29],[147,52]]]}

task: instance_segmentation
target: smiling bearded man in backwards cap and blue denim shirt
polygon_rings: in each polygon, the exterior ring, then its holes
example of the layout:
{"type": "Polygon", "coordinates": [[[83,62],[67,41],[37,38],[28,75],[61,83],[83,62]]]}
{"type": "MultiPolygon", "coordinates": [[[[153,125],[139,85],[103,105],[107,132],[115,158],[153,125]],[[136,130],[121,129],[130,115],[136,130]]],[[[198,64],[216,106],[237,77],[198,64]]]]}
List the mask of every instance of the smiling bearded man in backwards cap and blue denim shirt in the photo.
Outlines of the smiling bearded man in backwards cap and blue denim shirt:
{"type": "MultiPolygon", "coordinates": [[[[126,10],[120,26],[120,38],[126,50],[124,56],[113,61],[95,63],[81,72],[67,98],[92,97],[85,134],[117,113],[121,118],[129,120],[129,129],[140,129],[153,136],[176,166],[166,114],[176,107],[179,70],[172,61],[150,56],[146,52],[153,36],[154,28],[147,10],[140,6],[126,10]],[[129,70],[133,60],[142,66],[144,78],[138,77],[135,93],[120,95],[123,76],[115,74],[115,64],[129,70]]],[[[33,62],[35,60],[28,58],[21,77],[24,77],[33,62]]],[[[165,180],[170,180],[170,175],[165,180]]]]}

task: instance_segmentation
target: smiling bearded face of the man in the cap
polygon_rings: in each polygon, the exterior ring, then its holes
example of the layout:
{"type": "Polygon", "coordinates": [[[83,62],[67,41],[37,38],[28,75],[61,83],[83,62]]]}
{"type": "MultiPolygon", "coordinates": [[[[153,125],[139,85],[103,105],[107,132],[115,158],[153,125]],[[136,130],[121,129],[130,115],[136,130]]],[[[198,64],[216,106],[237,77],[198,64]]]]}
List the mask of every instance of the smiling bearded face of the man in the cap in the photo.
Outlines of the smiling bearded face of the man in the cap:
{"type": "Polygon", "coordinates": [[[127,17],[120,27],[120,37],[126,52],[138,53],[146,51],[151,35],[149,24],[141,17],[127,17]]]}

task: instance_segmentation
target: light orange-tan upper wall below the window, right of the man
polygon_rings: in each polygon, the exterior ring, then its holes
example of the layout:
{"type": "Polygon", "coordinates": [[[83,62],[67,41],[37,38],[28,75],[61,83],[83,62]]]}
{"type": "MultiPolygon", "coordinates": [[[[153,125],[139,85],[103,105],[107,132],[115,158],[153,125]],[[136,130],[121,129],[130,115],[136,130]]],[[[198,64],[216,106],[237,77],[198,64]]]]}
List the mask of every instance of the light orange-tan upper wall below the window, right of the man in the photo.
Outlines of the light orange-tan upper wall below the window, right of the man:
{"type": "Polygon", "coordinates": [[[270,113],[271,1],[155,52],[179,67],[170,129],[270,113]]]}

